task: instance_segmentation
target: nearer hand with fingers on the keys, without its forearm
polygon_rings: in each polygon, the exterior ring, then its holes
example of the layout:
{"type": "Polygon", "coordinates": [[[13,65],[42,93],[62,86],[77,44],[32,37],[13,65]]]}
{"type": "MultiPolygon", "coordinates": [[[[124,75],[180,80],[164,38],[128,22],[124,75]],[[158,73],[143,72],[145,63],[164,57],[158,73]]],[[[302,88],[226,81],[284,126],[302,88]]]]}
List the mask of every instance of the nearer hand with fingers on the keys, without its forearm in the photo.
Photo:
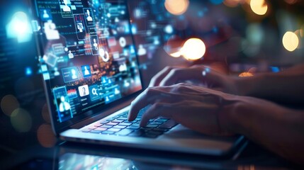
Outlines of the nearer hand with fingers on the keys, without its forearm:
{"type": "Polygon", "coordinates": [[[232,135],[221,126],[218,113],[234,103],[235,98],[191,84],[150,87],[131,103],[128,120],[134,120],[140,109],[151,105],[142,115],[141,126],[152,118],[164,117],[207,135],[232,135]]]}

